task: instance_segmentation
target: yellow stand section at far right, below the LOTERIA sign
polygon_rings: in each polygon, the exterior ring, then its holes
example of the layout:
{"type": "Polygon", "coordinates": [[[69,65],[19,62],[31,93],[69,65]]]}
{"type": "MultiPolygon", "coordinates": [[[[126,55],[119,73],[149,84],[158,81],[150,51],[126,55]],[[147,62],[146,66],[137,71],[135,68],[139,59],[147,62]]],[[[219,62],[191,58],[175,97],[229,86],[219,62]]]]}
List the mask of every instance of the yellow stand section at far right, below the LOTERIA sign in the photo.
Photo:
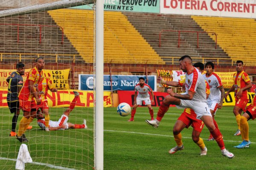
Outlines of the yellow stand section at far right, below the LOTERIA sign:
{"type": "MultiPolygon", "coordinates": [[[[256,63],[256,22],[253,19],[228,17],[192,16],[205,31],[216,32],[218,45],[236,60],[243,59],[244,64],[256,63]]],[[[212,37],[211,34],[208,34],[212,37]]],[[[214,40],[214,38],[212,37],[214,40]]]]}

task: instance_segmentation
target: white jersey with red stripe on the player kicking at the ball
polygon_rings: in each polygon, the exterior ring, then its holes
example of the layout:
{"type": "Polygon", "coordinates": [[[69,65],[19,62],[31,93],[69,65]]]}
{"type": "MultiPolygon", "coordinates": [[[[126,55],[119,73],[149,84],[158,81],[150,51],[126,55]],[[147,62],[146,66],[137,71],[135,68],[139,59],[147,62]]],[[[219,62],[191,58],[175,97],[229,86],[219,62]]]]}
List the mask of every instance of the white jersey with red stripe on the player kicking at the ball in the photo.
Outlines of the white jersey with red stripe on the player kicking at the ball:
{"type": "Polygon", "coordinates": [[[196,102],[207,102],[206,100],[206,86],[204,78],[201,74],[201,72],[195,68],[191,73],[186,73],[186,79],[185,79],[185,87],[186,87],[186,94],[189,93],[189,91],[194,92],[194,96],[192,98],[193,101],[196,102]]]}

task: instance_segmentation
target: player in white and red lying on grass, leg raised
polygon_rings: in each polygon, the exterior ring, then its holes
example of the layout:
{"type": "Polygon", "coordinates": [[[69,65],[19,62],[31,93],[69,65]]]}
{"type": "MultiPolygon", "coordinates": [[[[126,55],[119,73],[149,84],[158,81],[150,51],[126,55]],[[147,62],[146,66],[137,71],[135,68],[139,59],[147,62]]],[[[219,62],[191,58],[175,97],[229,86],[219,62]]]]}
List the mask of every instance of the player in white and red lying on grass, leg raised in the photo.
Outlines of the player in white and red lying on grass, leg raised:
{"type": "MultiPolygon", "coordinates": [[[[73,99],[73,101],[70,104],[70,107],[66,109],[66,111],[64,111],[63,115],[61,116],[61,118],[58,121],[49,121],[49,130],[59,130],[59,129],[87,129],[87,125],[86,125],[86,120],[84,119],[84,123],[79,125],[79,124],[72,124],[67,122],[68,121],[68,116],[70,115],[70,112],[73,111],[75,105],[76,105],[76,100],[79,97],[79,93],[77,91],[73,91],[75,94],[75,98],[73,99]]],[[[40,111],[38,112],[37,115],[38,118],[38,125],[41,127],[41,129],[45,130],[46,126],[45,126],[45,120],[42,119],[44,118],[43,113],[41,113],[40,111]]]]}

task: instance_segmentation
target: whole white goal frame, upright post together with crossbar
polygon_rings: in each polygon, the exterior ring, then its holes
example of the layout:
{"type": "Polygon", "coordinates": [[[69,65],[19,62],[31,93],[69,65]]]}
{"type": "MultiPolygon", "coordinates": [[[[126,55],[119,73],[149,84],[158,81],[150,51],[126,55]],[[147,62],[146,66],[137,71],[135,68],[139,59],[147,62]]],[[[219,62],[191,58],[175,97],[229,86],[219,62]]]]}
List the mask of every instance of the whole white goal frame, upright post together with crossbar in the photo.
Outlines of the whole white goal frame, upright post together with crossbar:
{"type": "MultiPolygon", "coordinates": [[[[103,170],[103,74],[104,74],[104,1],[103,0],[60,0],[53,3],[28,6],[0,11],[0,17],[9,17],[22,14],[31,14],[40,11],[48,11],[61,8],[70,8],[74,6],[96,4],[96,23],[95,23],[95,102],[94,102],[94,166],[96,170],[103,170]],[[95,107],[97,106],[97,107],[95,107]]],[[[22,113],[21,113],[22,115],[22,113]]],[[[21,116],[20,116],[21,117],[21,116]]]]}

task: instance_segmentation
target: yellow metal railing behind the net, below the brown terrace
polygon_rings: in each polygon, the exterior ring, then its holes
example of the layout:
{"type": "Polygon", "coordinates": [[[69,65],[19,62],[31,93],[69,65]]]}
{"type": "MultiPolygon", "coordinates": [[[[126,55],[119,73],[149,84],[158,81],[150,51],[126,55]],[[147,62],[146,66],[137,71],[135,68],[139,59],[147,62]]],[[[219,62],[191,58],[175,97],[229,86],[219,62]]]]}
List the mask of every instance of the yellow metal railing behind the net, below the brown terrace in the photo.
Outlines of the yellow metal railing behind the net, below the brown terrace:
{"type": "Polygon", "coordinates": [[[0,61],[2,62],[3,59],[17,59],[21,61],[22,59],[31,59],[34,60],[35,57],[31,56],[36,56],[36,57],[44,57],[44,59],[49,59],[49,60],[54,60],[55,62],[58,62],[58,60],[72,60],[72,62],[75,62],[79,59],[76,58],[76,54],[35,54],[35,53],[0,53],[0,61]],[[10,55],[10,57],[6,57],[5,55],[10,55]],[[17,56],[17,57],[15,57],[17,56]],[[25,57],[28,56],[28,57],[25,57]],[[47,57],[47,56],[52,56],[52,57],[47,57]],[[60,58],[59,56],[70,56],[70,58],[60,58]]]}

